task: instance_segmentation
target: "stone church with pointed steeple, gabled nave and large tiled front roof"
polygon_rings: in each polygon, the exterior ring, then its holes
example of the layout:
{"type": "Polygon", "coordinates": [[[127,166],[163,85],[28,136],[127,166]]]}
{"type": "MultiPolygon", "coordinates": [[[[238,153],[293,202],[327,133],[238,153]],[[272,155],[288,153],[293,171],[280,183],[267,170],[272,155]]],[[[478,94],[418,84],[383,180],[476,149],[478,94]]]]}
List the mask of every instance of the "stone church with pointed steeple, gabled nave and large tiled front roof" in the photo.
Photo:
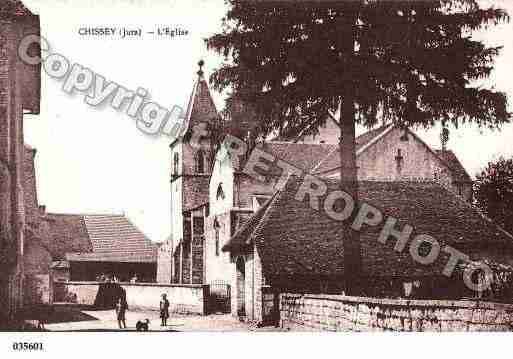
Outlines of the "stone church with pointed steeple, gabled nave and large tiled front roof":
{"type": "MultiPolygon", "coordinates": [[[[277,185],[279,175],[262,181],[244,171],[247,156],[232,156],[224,146],[216,151],[208,136],[191,141],[194,126],[219,121],[201,68],[197,74],[187,133],[170,145],[172,235],[159,249],[157,280],[209,284],[213,292],[225,284],[232,314],[257,322],[272,315],[276,291],[341,293],[349,229],[295,200],[293,180],[285,186],[277,185]]],[[[337,188],[338,137],[328,120],[316,136],[257,148],[337,188]]],[[[409,129],[388,124],[357,137],[356,158],[360,199],[472,260],[513,262],[513,237],[471,206],[471,177],[445,144],[432,149],[409,129]]],[[[462,295],[441,276],[440,263],[419,267],[394,253],[393,243],[376,244],[378,235],[373,228],[360,233],[363,293],[396,297],[415,286],[419,298],[462,295]]]]}

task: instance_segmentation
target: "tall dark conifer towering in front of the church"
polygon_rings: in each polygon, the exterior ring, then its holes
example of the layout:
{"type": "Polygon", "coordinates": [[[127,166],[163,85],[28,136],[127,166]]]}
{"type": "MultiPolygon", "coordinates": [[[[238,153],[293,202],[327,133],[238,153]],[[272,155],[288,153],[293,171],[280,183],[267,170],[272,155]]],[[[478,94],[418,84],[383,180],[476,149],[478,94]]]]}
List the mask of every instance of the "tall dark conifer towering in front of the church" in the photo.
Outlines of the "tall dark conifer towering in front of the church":
{"type": "MultiPolygon", "coordinates": [[[[503,93],[470,86],[490,74],[499,49],[469,32],[506,20],[502,10],[481,9],[476,0],[228,3],[222,33],[207,39],[227,59],[211,77],[214,87],[231,88],[252,106],[262,139],[276,131],[316,133],[328,117],[335,120],[341,188],[355,200],[356,123],[509,121],[503,93]]],[[[353,235],[344,263],[356,275],[353,235]]]]}

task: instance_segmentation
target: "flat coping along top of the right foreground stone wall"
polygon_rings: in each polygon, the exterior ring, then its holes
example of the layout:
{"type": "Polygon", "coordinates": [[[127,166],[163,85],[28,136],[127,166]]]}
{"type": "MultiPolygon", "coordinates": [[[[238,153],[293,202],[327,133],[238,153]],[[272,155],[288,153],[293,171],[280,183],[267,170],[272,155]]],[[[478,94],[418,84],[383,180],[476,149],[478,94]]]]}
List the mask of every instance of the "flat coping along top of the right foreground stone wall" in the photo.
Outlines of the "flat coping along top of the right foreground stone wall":
{"type": "Polygon", "coordinates": [[[294,294],[283,293],[289,298],[320,299],[331,300],[335,302],[354,303],[354,304],[375,304],[388,306],[409,306],[409,307],[449,307],[449,308],[472,308],[472,309],[505,309],[513,311],[513,304],[488,302],[480,300],[421,300],[421,299],[390,299],[373,297],[353,297],[345,295],[328,294],[294,294]]]}

